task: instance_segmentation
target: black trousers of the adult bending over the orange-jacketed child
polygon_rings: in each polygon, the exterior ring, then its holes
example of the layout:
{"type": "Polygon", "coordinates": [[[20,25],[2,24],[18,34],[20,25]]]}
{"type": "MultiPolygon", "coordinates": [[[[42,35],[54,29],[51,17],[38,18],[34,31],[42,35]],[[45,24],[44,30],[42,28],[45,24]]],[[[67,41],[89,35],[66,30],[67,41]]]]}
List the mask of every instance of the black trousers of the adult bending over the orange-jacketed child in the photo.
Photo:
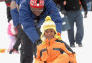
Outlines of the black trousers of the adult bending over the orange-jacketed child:
{"type": "Polygon", "coordinates": [[[21,41],[21,49],[20,49],[20,63],[32,63],[33,62],[33,43],[25,34],[25,32],[18,28],[18,36],[19,39],[17,44],[21,41]]]}

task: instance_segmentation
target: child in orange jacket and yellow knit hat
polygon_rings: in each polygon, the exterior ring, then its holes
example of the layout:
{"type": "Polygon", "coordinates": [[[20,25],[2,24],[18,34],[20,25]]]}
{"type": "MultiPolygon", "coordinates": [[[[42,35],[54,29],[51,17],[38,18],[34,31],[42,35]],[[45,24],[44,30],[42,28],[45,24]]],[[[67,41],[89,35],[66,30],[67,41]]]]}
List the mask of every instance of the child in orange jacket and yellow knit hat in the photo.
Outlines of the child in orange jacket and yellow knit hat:
{"type": "Polygon", "coordinates": [[[42,24],[41,32],[42,44],[37,46],[35,63],[76,63],[74,52],[69,51],[64,42],[61,42],[56,25],[49,16],[42,24]]]}

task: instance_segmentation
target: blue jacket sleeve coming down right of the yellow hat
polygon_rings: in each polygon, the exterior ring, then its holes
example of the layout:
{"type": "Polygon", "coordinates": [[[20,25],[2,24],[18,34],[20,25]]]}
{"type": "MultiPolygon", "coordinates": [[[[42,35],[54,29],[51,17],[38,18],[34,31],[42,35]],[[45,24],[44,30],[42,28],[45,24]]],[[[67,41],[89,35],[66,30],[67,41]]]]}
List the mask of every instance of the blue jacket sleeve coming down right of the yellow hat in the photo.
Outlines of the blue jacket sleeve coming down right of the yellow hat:
{"type": "Polygon", "coordinates": [[[45,0],[45,1],[46,1],[45,6],[47,8],[49,16],[51,16],[53,21],[55,21],[57,31],[61,32],[62,19],[56,7],[56,4],[53,2],[53,0],[45,0]]]}

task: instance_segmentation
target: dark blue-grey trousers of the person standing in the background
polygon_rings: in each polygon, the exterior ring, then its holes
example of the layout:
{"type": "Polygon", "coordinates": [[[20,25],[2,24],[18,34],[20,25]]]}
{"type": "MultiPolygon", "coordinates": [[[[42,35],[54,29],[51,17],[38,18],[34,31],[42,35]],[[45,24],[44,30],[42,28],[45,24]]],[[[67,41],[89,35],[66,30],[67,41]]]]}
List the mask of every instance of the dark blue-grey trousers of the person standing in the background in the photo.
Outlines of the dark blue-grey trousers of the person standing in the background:
{"type": "Polygon", "coordinates": [[[84,36],[83,16],[81,11],[67,11],[67,16],[71,29],[68,30],[68,38],[70,43],[82,43],[84,36]],[[76,35],[74,35],[74,23],[76,23],[76,35]]]}

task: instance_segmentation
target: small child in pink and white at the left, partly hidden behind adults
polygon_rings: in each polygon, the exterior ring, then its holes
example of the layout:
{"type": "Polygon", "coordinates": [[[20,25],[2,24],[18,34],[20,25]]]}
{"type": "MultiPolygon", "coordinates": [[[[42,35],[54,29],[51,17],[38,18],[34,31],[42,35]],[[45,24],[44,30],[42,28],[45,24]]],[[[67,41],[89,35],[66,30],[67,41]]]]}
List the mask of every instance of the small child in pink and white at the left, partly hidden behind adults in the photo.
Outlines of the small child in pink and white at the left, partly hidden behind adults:
{"type": "Polygon", "coordinates": [[[8,24],[8,35],[10,40],[8,52],[10,52],[13,49],[13,45],[16,42],[16,35],[17,35],[17,30],[14,28],[12,20],[10,20],[8,24]]]}

